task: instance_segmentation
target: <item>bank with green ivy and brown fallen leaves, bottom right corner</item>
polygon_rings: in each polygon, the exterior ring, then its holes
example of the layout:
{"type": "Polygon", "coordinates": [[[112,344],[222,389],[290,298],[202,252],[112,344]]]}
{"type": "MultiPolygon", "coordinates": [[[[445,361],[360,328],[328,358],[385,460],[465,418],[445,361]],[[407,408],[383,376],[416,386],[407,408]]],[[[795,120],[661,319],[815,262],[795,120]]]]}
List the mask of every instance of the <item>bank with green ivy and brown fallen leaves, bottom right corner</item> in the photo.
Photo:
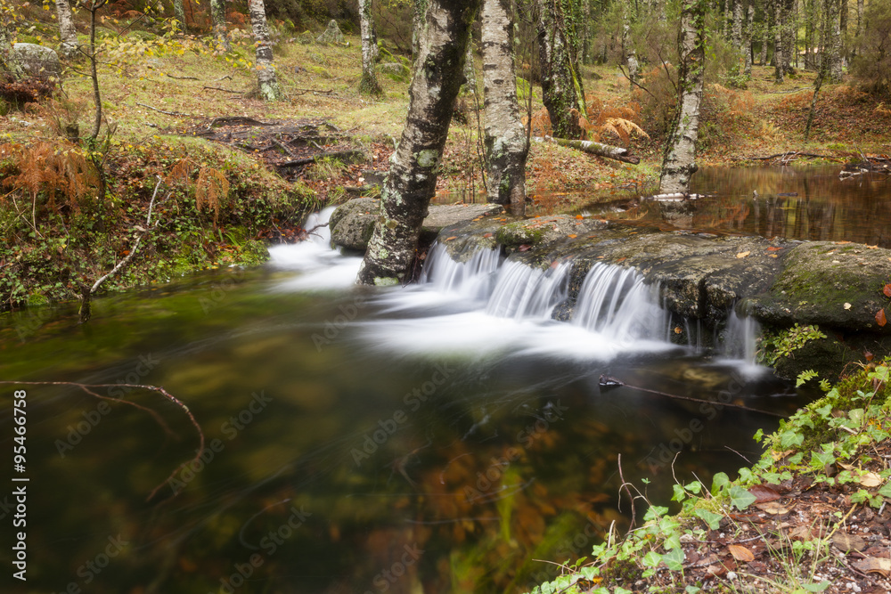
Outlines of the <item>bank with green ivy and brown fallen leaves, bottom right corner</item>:
{"type": "MultiPolygon", "coordinates": [[[[764,454],[739,478],[674,484],[679,513],[650,506],[533,592],[891,590],[888,379],[886,360],[824,384],[776,433],[755,435],[764,454]]],[[[646,484],[623,492],[646,507],[646,484]]]]}

